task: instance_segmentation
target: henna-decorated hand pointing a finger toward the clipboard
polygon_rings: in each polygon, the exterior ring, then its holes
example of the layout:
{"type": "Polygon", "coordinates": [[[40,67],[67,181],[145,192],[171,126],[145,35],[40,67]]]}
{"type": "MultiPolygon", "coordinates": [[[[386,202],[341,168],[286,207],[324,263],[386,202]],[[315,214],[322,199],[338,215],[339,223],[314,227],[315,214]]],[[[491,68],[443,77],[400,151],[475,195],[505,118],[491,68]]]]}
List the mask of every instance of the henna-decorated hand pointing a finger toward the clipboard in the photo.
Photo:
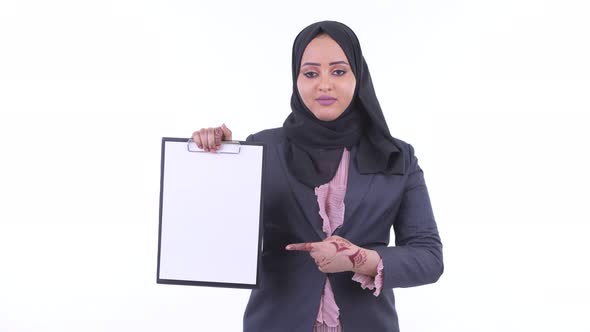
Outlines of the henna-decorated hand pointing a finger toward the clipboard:
{"type": "Polygon", "coordinates": [[[320,271],[324,273],[353,271],[373,274],[371,270],[375,270],[376,274],[380,259],[375,251],[361,248],[337,235],[330,236],[322,242],[292,243],[287,245],[286,249],[309,252],[320,271]]]}

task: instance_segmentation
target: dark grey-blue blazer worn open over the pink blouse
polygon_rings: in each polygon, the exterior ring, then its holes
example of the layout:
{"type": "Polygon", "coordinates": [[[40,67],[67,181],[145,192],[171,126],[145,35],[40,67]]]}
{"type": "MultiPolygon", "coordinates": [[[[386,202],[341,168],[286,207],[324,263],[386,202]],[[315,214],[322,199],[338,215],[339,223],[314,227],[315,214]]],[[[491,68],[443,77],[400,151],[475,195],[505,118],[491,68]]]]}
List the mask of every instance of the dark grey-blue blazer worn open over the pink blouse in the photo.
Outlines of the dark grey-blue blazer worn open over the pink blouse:
{"type": "Polygon", "coordinates": [[[360,174],[356,150],[351,151],[344,223],[334,235],[381,256],[384,284],[375,297],[352,280],[352,272],[325,274],[308,253],[285,250],[289,243],[326,237],[314,190],[287,170],[285,140],[282,128],[247,138],[264,143],[266,151],[260,288],[250,295],[244,331],[311,332],[326,277],[340,308],[343,332],[399,331],[392,289],[433,283],[443,272],[442,245],[412,146],[395,141],[398,158],[403,158],[399,175],[360,174]],[[392,226],[395,246],[389,246],[392,226]]]}

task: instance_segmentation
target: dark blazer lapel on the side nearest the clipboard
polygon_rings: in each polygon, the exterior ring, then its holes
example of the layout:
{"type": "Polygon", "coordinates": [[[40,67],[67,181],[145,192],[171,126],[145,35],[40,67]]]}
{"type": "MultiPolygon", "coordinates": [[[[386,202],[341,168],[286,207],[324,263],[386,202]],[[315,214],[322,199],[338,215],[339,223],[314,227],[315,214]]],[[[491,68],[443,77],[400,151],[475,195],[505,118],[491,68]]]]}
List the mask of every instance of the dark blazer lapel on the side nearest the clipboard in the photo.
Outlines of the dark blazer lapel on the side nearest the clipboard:
{"type": "Polygon", "coordinates": [[[279,154],[279,159],[281,160],[281,165],[283,166],[283,170],[285,171],[285,175],[288,180],[287,182],[289,182],[291,191],[293,192],[293,196],[295,196],[295,199],[299,204],[301,212],[303,212],[310,226],[315,230],[320,239],[325,239],[326,234],[324,233],[321,227],[322,220],[319,214],[320,208],[318,206],[317,197],[315,195],[314,189],[299,182],[299,180],[297,180],[289,173],[289,169],[287,168],[287,161],[285,159],[284,144],[277,144],[276,146],[279,154]]]}

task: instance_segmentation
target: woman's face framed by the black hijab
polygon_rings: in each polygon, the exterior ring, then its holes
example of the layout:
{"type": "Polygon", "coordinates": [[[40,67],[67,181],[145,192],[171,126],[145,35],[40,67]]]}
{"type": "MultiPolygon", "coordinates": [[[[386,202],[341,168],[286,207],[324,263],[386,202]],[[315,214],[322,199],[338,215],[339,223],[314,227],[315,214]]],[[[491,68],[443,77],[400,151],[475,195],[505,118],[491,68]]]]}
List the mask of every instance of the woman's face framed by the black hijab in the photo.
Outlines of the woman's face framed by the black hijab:
{"type": "Polygon", "coordinates": [[[346,110],[356,79],[342,48],[328,35],[319,35],[305,48],[297,89],[307,108],[322,121],[335,120],[346,110]]]}

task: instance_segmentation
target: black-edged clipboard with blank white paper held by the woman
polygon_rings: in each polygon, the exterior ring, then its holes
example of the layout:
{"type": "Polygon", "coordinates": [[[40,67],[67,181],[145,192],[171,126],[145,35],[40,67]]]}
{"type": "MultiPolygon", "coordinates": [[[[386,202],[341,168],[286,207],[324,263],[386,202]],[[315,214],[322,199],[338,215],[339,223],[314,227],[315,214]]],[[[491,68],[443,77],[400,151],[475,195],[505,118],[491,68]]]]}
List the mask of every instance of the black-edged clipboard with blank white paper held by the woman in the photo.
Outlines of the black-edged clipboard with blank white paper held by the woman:
{"type": "Polygon", "coordinates": [[[264,146],[162,138],[158,284],[259,287],[264,146]]]}

